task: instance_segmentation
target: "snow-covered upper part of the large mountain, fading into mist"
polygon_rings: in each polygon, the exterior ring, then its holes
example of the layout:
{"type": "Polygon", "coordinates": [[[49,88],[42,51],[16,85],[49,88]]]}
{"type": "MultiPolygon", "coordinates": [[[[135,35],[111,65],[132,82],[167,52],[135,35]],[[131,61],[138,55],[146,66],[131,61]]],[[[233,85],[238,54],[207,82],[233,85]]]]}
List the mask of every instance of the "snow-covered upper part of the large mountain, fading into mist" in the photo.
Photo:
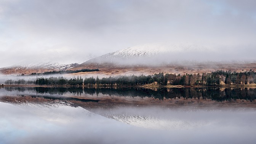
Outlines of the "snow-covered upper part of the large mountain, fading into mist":
{"type": "Polygon", "coordinates": [[[114,63],[130,65],[155,65],[177,62],[195,62],[213,59],[213,51],[207,46],[191,43],[150,43],[133,46],[99,56],[88,63],[114,63]]]}

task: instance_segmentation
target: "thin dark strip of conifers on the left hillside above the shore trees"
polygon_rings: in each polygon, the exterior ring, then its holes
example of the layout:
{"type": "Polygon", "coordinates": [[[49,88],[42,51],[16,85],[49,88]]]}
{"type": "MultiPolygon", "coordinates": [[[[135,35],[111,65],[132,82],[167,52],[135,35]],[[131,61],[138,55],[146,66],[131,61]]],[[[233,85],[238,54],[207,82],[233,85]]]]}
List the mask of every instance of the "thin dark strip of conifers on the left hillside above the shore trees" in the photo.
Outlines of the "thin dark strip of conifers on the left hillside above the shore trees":
{"type": "Polygon", "coordinates": [[[71,73],[77,73],[77,72],[94,72],[99,71],[99,69],[81,69],[81,70],[53,70],[49,72],[43,72],[43,73],[32,73],[30,75],[51,75],[51,74],[71,74],[71,73]]]}

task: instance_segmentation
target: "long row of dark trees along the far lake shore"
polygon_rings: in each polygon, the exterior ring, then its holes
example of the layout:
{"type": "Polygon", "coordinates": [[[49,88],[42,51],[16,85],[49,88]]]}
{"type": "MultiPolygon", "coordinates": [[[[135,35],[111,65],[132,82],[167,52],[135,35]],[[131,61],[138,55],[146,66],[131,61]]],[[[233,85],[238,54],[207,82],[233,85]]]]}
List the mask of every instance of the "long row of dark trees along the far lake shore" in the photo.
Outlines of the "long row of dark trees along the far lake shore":
{"type": "Polygon", "coordinates": [[[63,77],[37,78],[35,80],[25,81],[20,79],[17,81],[6,80],[6,85],[70,85],[70,86],[140,86],[148,84],[166,85],[184,85],[184,86],[218,86],[218,85],[247,85],[256,83],[256,72],[230,72],[218,70],[211,73],[201,74],[154,74],[154,75],[131,75],[120,77],[104,77],[95,79],[93,77],[83,79],[79,77],[66,79],[63,77]]]}

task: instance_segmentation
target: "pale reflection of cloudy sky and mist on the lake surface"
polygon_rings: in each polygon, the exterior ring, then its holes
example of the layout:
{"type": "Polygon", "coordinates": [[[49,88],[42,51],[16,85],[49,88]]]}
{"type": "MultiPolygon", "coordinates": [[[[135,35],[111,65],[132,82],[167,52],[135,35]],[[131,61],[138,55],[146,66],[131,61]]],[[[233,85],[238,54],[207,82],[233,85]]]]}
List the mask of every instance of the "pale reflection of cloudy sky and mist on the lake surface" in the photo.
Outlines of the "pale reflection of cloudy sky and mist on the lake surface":
{"type": "Polygon", "coordinates": [[[136,123],[129,125],[127,121],[122,122],[129,117],[106,118],[63,102],[47,105],[11,105],[0,102],[0,109],[2,144],[255,142],[256,111],[250,108],[123,107],[101,110],[102,115],[141,115],[144,120],[138,123],[151,127],[138,126],[136,123]],[[149,123],[149,117],[156,121],[149,123]],[[181,125],[175,126],[177,124],[181,125]],[[166,128],[163,130],[161,126],[164,125],[166,128]]]}

